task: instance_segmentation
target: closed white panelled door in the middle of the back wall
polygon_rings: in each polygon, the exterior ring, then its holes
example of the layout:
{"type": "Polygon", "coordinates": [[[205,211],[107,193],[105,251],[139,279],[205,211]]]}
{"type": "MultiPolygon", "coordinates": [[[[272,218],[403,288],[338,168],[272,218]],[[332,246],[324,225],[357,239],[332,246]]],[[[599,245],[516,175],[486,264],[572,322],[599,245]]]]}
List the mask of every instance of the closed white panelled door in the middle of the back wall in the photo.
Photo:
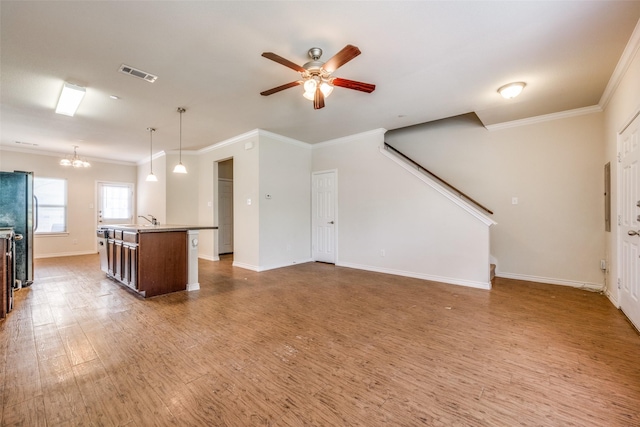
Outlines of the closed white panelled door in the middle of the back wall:
{"type": "Polygon", "coordinates": [[[336,262],[336,201],[337,172],[313,174],[311,219],[313,259],[335,264],[336,262]]]}

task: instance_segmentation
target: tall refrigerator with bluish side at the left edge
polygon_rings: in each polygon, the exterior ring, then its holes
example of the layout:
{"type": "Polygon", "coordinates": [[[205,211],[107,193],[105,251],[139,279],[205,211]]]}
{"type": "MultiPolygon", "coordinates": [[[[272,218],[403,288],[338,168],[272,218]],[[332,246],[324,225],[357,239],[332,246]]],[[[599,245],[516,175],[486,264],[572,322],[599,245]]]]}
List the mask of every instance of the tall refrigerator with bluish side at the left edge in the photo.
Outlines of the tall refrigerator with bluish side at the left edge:
{"type": "Polygon", "coordinates": [[[15,233],[16,288],[33,283],[36,211],[33,172],[0,172],[0,227],[11,227],[15,233]]]}

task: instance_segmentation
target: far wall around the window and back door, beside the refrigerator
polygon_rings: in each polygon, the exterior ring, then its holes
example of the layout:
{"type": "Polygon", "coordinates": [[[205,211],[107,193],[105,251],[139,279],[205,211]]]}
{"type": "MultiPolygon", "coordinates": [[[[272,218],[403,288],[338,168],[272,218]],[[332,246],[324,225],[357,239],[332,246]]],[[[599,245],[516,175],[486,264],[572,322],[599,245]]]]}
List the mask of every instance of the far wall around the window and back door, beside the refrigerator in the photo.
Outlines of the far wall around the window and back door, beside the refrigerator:
{"type": "Polygon", "coordinates": [[[0,150],[0,170],[33,171],[43,178],[67,180],[67,234],[38,236],[34,241],[36,258],[82,255],[96,252],[97,181],[135,184],[137,167],[91,160],[91,167],[75,169],[58,164],[63,156],[0,150]],[[74,243],[76,242],[76,243],[74,243]]]}

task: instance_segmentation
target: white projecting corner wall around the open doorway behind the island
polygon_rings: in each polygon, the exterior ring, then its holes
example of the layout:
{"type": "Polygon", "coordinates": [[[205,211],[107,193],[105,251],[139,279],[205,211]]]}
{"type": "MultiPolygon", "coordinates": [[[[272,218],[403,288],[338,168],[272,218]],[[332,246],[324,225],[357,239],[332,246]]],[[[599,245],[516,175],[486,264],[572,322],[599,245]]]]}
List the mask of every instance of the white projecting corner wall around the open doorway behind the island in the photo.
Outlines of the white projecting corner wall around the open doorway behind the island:
{"type": "MultiPolygon", "coordinates": [[[[262,130],[199,152],[199,223],[217,219],[217,162],[233,158],[235,266],[262,271],[310,260],[311,149],[262,130]],[[266,199],[271,194],[271,199],[266,199]],[[209,206],[211,204],[211,206],[209,206]]],[[[200,256],[217,259],[217,233],[201,231],[200,256]]]]}

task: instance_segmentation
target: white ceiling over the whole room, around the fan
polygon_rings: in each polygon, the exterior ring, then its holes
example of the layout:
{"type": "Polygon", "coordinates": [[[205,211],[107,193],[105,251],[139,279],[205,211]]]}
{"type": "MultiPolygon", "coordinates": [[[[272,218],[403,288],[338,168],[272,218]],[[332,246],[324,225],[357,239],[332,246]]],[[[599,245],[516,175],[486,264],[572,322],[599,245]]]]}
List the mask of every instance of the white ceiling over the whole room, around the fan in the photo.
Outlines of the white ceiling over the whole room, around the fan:
{"type": "Polygon", "coordinates": [[[308,143],[476,112],[485,125],[598,104],[640,18],[640,1],[6,1],[0,3],[3,148],[125,162],[196,150],[260,128],[308,143]],[[362,54],[313,109],[296,64],[320,47],[362,54]],[[158,76],[118,72],[126,64],[158,76]],[[54,113],[64,82],[86,87],[54,113]],[[524,81],[513,100],[496,89],[524,81]],[[113,100],[109,96],[120,99],[113,100]],[[34,144],[34,145],[31,145],[34,144]]]}

